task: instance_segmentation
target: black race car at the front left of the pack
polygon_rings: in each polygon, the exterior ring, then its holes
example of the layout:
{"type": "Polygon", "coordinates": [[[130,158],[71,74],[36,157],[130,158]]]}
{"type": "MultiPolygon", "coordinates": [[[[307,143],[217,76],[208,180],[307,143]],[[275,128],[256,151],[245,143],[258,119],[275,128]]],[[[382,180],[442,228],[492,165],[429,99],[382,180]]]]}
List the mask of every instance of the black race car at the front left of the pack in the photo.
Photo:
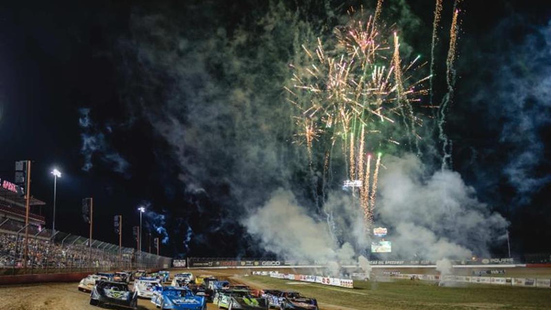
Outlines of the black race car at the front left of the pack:
{"type": "Polygon", "coordinates": [[[138,295],[130,291],[126,283],[100,280],[90,293],[90,304],[92,306],[111,304],[138,309],[138,295]]]}

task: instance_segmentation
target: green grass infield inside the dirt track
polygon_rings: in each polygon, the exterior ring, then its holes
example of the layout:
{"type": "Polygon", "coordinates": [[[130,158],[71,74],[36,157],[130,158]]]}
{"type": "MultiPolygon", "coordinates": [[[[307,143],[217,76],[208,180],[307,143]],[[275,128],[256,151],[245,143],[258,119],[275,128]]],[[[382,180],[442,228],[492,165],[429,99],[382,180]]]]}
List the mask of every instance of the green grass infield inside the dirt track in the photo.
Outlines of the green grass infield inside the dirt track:
{"type": "MultiPolygon", "coordinates": [[[[240,277],[264,289],[300,291],[321,303],[354,309],[551,309],[551,290],[467,284],[439,287],[428,281],[354,281],[355,289],[288,284],[267,276],[240,277]]],[[[322,306],[323,308],[323,306],[322,306]]]]}

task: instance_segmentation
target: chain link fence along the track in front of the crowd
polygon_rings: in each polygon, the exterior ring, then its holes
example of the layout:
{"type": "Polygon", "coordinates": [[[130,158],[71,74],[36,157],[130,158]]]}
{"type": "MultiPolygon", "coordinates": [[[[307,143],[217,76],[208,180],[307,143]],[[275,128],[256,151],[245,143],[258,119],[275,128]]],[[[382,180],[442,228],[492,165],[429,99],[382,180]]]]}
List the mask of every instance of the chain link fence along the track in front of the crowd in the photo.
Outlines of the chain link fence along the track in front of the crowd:
{"type": "Polygon", "coordinates": [[[20,222],[0,222],[0,275],[163,269],[171,258],[87,237],[29,225],[29,238],[20,222]],[[26,257],[25,257],[26,249],[26,257]],[[26,261],[26,262],[25,262],[26,261]]]}

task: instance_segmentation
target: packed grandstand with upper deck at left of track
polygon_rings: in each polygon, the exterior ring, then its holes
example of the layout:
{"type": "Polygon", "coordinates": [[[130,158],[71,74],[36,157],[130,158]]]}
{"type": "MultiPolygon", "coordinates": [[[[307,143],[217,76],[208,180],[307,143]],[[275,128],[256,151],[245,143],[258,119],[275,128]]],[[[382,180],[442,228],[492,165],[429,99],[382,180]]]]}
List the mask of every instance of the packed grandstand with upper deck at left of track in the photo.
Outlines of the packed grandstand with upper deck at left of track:
{"type": "MultiPolygon", "coordinates": [[[[0,182],[0,275],[166,268],[170,258],[119,248],[98,240],[45,229],[45,218],[29,214],[25,269],[25,199],[15,184],[0,182]],[[120,251],[120,253],[119,253],[120,251]]],[[[30,206],[44,206],[31,198],[30,206]]]]}

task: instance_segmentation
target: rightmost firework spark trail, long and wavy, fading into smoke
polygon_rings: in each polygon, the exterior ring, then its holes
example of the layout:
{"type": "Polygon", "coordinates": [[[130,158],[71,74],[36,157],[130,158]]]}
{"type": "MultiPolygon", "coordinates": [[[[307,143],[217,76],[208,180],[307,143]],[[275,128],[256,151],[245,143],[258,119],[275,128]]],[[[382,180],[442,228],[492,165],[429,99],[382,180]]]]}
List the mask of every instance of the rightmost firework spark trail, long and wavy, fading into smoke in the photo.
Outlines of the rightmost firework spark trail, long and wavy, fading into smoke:
{"type": "Polygon", "coordinates": [[[456,45],[457,45],[457,35],[459,33],[458,25],[458,16],[459,9],[457,6],[461,0],[455,0],[453,3],[453,17],[450,28],[450,48],[448,50],[447,59],[446,59],[446,83],[447,83],[447,93],[442,98],[442,102],[439,107],[439,119],[438,119],[438,129],[439,129],[439,139],[442,142],[442,170],[451,168],[452,166],[452,147],[453,144],[451,140],[447,137],[444,132],[444,124],[446,122],[446,111],[447,107],[450,105],[450,102],[453,100],[453,87],[455,86],[455,68],[453,67],[453,62],[455,61],[456,55],[456,45]]]}

